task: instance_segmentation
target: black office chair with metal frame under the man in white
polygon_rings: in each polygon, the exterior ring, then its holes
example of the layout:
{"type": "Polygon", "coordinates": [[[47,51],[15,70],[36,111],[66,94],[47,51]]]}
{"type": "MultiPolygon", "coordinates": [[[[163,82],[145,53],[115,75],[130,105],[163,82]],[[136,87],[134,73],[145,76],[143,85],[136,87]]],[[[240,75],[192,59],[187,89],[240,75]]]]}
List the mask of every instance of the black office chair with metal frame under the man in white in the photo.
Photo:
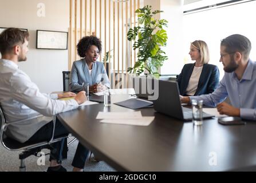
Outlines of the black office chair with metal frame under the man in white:
{"type": "MultiPolygon", "coordinates": [[[[36,116],[38,117],[38,116],[36,116]]],[[[33,118],[36,118],[33,117],[33,118]]],[[[26,171],[26,166],[25,166],[25,158],[34,155],[37,156],[38,153],[42,151],[42,149],[53,149],[52,144],[54,142],[61,141],[63,138],[67,138],[68,134],[66,136],[60,136],[57,138],[54,138],[54,129],[55,129],[55,122],[56,122],[56,117],[54,116],[53,118],[53,133],[52,133],[52,138],[50,141],[43,141],[43,142],[38,142],[37,144],[31,144],[31,143],[21,143],[16,140],[13,140],[12,138],[9,138],[5,135],[6,129],[10,124],[19,124],[24,121],[31,120],[33,118],[29,118],[26,120],[20,120],[20,121],[15,121],[6,124],[5,121],[5,116],[3,114],[2,108],[0,106],[0,141],[1,144],[7,149],[11,151],[18,151],[22,150],[22,153],[19,154],[19,160],[21,160],[21,165],[19,166],[19,171],[20,172],[25,172],[26,171]]]]}

